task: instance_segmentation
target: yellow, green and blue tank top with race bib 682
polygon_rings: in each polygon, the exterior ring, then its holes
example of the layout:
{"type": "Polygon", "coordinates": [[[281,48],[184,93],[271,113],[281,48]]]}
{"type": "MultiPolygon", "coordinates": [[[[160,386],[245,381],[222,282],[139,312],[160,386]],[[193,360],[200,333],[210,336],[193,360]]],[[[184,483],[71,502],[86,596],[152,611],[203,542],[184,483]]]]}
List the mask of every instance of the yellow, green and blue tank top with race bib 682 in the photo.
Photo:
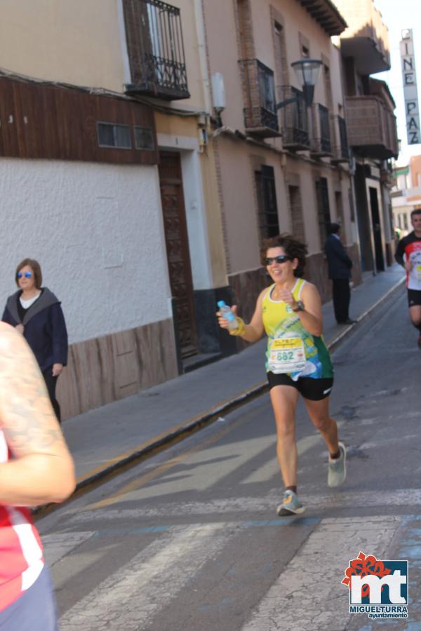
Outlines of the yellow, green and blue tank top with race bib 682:
{"type": "MultiPolygon", "coordinates": [[[[292,290],[300,300],[306,281],[297,278],[292,290]]],[[[262,320],[267,334],[266,370],[288,374],[296,381],[300,376],[324,379],[333,376],[333,366],[323,336],[309,333],[300,317],[283,300],[274,300],[269,287],[262,300],[262,320]]]]}

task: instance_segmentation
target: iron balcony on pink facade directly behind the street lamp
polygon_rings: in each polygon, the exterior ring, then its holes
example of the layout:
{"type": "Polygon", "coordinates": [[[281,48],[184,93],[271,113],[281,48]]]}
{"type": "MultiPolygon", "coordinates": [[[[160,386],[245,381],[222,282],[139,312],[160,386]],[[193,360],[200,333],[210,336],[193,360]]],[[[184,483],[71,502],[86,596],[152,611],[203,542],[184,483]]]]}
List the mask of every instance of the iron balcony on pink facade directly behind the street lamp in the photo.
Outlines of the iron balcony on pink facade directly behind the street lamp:
{"type": "Polygon", "coordinates": [[[293,86],[279,86],[279,101],[298,97],[298,101],[290,103],[280,109],[282,144],[290,151],[300,151],[310,148],[309,123],[307,108],[305,107],[302,92],[293,86]]]}

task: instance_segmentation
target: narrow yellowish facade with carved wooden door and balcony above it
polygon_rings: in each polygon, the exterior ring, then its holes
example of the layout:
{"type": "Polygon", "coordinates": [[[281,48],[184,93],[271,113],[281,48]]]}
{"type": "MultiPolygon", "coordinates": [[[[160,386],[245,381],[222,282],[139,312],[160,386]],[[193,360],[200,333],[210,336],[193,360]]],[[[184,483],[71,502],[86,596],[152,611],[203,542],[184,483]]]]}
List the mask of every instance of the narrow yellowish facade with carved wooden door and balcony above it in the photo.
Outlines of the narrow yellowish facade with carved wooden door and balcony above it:
{"type": "MultiPolygon", "coordinates": [[[[224,351],[227,273],[201,0],[123,0],[126,93],[154,111],[179,372],[224,351]]],[[[225,345],[229,342],[225,340],[225,345]]],[[[232,344],[231,344],[232,346],[232,344]]]]}

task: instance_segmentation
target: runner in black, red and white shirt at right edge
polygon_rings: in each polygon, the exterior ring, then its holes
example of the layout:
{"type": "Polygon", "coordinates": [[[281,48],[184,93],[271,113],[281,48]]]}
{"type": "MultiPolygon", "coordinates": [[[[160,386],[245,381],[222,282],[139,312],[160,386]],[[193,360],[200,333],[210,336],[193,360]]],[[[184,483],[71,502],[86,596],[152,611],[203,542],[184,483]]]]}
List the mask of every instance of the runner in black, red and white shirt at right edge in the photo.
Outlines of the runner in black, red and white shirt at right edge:
{"type": "Polygon", "coordinates": [[[410,213],[410,221],[413,231],[399,241],[395,259],[406,269],[410,321],[419,332],[421,348],[421,208],[410,213]]]}

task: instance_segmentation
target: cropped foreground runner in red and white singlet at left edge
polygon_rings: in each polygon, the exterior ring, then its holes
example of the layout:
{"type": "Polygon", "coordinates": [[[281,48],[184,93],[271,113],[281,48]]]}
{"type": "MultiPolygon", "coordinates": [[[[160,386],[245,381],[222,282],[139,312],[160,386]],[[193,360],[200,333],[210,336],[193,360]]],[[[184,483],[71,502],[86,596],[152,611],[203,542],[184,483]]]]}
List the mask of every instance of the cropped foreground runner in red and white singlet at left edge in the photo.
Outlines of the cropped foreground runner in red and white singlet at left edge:
{"type": "Polygon", "coordinates": [[[58,631],[30,506],[61,502],[74,466],[24,337],[0,323],[0,631],[58,631]]]}

